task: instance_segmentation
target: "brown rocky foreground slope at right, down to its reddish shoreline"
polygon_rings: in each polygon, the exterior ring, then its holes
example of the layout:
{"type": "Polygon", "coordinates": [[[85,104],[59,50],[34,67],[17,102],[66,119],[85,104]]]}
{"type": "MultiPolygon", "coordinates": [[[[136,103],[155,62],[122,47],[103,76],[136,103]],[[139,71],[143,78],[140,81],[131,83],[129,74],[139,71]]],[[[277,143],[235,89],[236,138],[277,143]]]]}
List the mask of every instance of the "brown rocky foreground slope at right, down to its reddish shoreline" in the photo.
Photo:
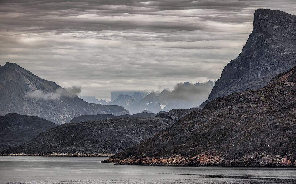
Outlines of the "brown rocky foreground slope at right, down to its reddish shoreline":
{"type": "Polygon", "coordinates": [[[260,90],[220,97],[106,162],[296,166],[296,67],[260,90]]]}

